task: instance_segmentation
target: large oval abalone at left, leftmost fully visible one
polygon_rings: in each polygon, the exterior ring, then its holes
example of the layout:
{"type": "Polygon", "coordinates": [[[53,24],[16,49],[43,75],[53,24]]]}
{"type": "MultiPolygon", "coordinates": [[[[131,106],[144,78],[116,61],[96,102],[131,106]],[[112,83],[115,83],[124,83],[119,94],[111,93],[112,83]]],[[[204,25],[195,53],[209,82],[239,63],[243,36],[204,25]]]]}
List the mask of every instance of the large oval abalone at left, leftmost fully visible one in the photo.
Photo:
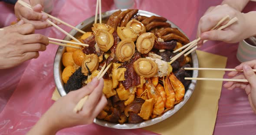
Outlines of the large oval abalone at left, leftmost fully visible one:
{"type": "Polygon", "coordinates": [[[95,35],[95,39],[97,42],[98,47],[104,51],[107,52],[112,45],[114,44],[114,37],[111,33],[108,31],[99,29],[95,35]]]}

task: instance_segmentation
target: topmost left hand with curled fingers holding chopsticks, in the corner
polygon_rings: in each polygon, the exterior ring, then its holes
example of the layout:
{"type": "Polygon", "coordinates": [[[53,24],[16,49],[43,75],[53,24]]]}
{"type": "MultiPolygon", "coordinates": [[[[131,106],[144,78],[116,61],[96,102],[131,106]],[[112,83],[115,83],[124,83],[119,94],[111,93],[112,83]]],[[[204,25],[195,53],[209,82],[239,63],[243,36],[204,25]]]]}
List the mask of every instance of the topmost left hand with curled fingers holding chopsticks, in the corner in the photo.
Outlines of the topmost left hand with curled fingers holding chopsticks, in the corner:
{"type": "MultiPolygon", "coordinates": [[[[30,4],[32,9],[24,7],[20,5],[20,3],[16,3],[14,6],[15,15],[19,19],[23,19],[25,23],[31,23],[35,26],[35,29],[44,29],[51,24],[47,23],[45,20],[48,19],[48,16],[44,13],[41,13],[43,10],[43,2],[44,0],[23,0],[24,2],[30,4]]],[[[55,24],[59,24],[56,21],[53,21],[55,24]]]]}

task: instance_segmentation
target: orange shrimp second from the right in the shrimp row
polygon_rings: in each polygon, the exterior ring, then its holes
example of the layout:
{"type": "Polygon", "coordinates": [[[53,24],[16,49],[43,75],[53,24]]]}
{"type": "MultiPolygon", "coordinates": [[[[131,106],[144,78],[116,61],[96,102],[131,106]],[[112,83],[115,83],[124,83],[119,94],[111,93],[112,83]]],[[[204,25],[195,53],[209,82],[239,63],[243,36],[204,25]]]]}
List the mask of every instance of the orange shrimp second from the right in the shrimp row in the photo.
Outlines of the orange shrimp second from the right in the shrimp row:
{"type": "Polygon", "coordinates": [[[166,103],[165,103],[165,108],[169,109],[174,106],[175,102],[175,93],[174,90],[172,89],[171,82],[168,77],[166,77],[164,82],[164,90],[166,94],[166,103]]]}

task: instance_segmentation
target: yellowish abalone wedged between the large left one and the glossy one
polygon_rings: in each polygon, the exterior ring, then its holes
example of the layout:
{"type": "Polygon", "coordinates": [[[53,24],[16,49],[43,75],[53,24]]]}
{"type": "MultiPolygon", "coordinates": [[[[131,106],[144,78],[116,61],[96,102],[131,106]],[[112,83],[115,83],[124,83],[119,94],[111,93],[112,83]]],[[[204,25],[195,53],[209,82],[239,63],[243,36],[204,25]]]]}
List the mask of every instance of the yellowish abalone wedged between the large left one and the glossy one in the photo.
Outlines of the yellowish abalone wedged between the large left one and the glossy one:
{"type": "Polygon", "coordinates": [[[138,38],[138,35],[131,28],[127,27],[117,27],[117,35],[121,40],[129,38],[133,42],[138,38]]]}

